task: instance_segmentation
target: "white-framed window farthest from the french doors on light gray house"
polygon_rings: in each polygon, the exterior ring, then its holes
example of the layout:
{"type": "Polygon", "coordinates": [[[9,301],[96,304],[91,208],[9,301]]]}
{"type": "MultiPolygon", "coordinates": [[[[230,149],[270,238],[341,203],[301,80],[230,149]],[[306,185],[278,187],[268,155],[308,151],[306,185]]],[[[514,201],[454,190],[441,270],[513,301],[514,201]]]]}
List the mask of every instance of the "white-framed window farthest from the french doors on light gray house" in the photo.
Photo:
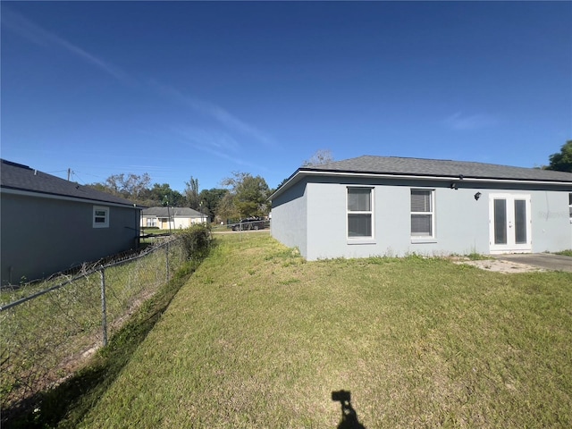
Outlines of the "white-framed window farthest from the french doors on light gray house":
{"type": "Polygon", "coordinates": [[[372,188],[348,188],[348,239],[374,238],[373,207],[372,188]]]}

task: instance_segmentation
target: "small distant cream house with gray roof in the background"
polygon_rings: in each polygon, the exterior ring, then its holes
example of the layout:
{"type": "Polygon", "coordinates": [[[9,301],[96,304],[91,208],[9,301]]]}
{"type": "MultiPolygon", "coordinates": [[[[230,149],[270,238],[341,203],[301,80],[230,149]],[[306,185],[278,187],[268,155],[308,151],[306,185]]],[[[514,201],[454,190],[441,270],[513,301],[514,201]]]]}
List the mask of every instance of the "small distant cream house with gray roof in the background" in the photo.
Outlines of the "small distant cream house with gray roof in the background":
{"type": "Polygon", "coordinates": [[[149,207],[141,212],[141,227],[181,230],[194,223],[208,223],[209,218],[189,207],[149,207]]]}

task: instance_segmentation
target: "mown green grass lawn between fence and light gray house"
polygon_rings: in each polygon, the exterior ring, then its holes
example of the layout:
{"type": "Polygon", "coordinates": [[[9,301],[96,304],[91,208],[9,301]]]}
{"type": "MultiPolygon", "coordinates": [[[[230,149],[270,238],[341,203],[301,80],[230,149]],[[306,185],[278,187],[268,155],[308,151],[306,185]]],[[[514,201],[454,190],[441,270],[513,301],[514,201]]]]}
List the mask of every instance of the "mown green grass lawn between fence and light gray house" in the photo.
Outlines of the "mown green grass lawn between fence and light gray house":
{"type": "Polygon", "coordinates": [[[216,240],[82,427],[572,426],[572,273],[216,240]]]}

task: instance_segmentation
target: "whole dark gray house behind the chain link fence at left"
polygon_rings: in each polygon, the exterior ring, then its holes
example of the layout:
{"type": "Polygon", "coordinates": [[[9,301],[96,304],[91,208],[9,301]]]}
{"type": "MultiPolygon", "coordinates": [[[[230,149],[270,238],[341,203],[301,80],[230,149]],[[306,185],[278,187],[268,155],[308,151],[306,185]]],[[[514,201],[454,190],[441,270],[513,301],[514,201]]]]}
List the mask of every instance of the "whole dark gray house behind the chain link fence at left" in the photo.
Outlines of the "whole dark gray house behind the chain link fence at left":
{"type": "Polygon", "coordinates": [[[1,160],[1,282],[18,284],[136,248],[140,207],[1,160]]]}

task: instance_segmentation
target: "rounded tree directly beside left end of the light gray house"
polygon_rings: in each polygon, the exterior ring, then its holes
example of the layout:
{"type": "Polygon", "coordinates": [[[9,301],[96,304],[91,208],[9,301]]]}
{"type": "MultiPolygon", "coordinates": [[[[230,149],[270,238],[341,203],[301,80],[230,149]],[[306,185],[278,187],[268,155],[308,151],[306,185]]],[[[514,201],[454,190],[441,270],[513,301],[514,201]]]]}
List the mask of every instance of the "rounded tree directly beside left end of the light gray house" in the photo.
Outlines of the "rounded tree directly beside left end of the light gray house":
{"type": "MultiPolygon", "coordinates": [[[[240,217],[265,216],[270,207],[266,198],[270,189],[264,178],[249,172],[232,172],[232,177],[223,179],[223,186],[230,188],[232,205],[240,217]]],[[[225,202],[227,203],[227,202],[225,202]]]]}

